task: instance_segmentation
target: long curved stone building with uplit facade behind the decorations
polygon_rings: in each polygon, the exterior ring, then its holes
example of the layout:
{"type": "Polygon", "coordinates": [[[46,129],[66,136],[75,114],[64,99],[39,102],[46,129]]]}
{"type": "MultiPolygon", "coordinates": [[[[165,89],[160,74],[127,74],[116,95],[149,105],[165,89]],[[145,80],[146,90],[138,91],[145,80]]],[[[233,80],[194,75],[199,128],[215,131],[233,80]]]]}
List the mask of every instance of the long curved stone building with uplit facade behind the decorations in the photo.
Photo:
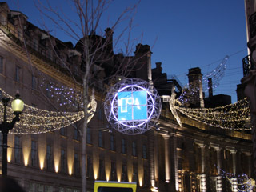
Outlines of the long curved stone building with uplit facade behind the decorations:
{"type": "MultiPolygon", "coordinates": [[[[50,36],[28,22],[26,15],[10,10],[6,2],[0,3],[0,16],[0,88],[10,95],[19,90],[29,106],[66,110],[54,102],[50,87],[44,90],[41,85],[54,82],[80,88],[74,84],[74,78],[79,81],[82,74],[79,44],[73,46],[50,36]]],[[[106,38],[92,35],[106,42],[112,34],[107,29],[106,38]]],[[[154,83],[152,74],[156,70],[151,74],[150,46],[139,44],[134,56],[125,57],[114,54],[110,44],[106,53],[113,57],[103,66],[95,65],[94,80],[110,74],[108,69],[124,58],[138,60],[138,70],[131,77],[154,83]]],[[[157,64],[157,68],[162,74],[161,65],[157,64]]],[[[182,127],[178,126],[167,102],[162,102],[160,130],[136,136],[110,132],[100,105],[107,86],[97,82],[94,87],[98,108],[87,130],[88,191],[93,191],[95,180],[137,182],[138,191],[238,191],[236,175],[251,176],[250,134],[207,126],[182,114],[182,127]],[[222,178],[221,170],[233,173],[233,182],[222,178]]],[[[76,126],[80,126],[79,122],[76,126]]],[[[27,191],[80,190],[81,141],[74,126],[46,134],[9,134],[8,141],[8,175],[27,191]]]]}

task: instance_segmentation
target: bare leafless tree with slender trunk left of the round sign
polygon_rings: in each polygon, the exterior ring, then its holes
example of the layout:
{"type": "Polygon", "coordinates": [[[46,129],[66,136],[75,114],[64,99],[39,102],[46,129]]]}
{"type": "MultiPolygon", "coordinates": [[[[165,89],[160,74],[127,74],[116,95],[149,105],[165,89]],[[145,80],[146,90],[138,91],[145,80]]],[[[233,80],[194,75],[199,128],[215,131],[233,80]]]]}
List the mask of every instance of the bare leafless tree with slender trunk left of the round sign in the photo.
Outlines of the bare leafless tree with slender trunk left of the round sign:
{"type": "MultiPolygon", "coordinates": [[[[81,139],[82,139],[82,192],[86,191],[86,135],[88,127],[88,103],[90,102],[90,88],[94,86],[98,81],[102,82],[113,82],[113,79],[117,76],[126,77],[134,70],[138,70],[140,66],[136,66],[135,63],[139,58],[134,59],[126,57],[131,54],[131,47],[134,43],[130,40],[130,32],[133,28],[134,12],[138,4],[127,7],[122,13],[115,19],[112,26],[105,30],[106,38],[96,35],[100,33],[100,22],[102,15],[106,12],[111,3],[111,0],[70,0],[67,1],[70,5],[70,9],[74,10],[77,16],[77,20],[70,18],[69,13],[65,13],[61,8],[58,10],[51,6],[50,1],[46,4],[38,0],[36,6],[42,13],[42,18],[46,18],[54,23],[55,27],[62,30],[70,38],[77,41],[76,50],[81,53],[81,70],[82,70],[82,81],[75,78],[70,67],[66,65],[66,62],[62,60],[61,55],[58,54],[54,42],[50,42],[54,50],[54,54],[66,69],[69,70],[70,75],[74,79],[74,83],[82,86],[82,106],[85,117],[83,118],[81,139]],[[113,31],[122,24],[127,25],[123,27],[120,34],[113,39],[113,31]],[[118,46],[118,42],[124,38],[126,34],[126,41],[124,43],[124,54],[119,54],[118,57],[114,57],[114,49],[118,46]],[[99,70],[95,70],[95,66],[98,66],[105,70],[105,75],[102,77],[94,77],[99,74],[99,70]]],[[[50,30],[46,25],[46,22],[42,22],[45,30],[50,35],[50,30]]],[[[97,67],[96,67],[97,68],[97,67]]],[[[103,95],[103,94],[102,94],[103,95]]]]}

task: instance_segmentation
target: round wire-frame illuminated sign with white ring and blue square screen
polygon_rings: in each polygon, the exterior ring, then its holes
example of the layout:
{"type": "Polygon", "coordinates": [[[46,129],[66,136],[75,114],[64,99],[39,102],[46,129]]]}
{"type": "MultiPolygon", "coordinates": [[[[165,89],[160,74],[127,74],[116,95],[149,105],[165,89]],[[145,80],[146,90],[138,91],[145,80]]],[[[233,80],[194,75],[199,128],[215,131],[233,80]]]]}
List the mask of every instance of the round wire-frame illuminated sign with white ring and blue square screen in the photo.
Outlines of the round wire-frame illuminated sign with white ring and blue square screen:
{"type": "Polygon", "coordinates": [[[155,126],[161,111],[157,90],[138,78],[126,78],[111,87],[104,103],[111,126],[123,134],[142,134],[155,126]]]}

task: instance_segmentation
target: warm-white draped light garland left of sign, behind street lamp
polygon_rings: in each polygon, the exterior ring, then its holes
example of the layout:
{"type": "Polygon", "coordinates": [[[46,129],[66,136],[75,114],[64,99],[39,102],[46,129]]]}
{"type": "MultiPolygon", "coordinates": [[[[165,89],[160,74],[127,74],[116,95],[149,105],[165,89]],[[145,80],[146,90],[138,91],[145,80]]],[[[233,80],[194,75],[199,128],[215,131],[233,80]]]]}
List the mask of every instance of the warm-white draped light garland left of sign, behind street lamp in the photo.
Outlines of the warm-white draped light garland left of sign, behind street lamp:
{"type": "MultiPolygon", "coordinates": [[[[8,97],[14,99],[9,94],[6,94],[4,90],[1,90],[2,97],[8,97]]],[[[93,118],[96,111],[97,102],[95,101],[94,94],[91,97],[91,101],[88,104],[88,122],[93,118]]],[[[3,121],[3,107],[0,103],[0,121],[3,121]]],[[[14,118],[13,111],[10,107],[7,107],[7,117],[14,118]]],[[[13,130],[10,130],[10,134],[42,134],[54,130],[59,130],[62,127],[70,126],[74,122],[78,122],[84,117],[83,111],[78,112],[58,112],[49,110],[40,110],[33,106],[25,104],[25,109],[20,115],[20,122],[16,123],[13,130]]]]}

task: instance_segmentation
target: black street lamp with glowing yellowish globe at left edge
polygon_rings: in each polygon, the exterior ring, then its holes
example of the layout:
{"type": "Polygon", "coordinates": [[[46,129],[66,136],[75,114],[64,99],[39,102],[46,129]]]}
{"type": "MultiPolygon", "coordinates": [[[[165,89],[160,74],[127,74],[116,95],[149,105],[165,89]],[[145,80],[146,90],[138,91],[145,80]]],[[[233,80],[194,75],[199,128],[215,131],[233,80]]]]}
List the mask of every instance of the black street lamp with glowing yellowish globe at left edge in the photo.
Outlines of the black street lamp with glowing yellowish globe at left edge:
{"type": "Polygon", "coordinates": [[[22,113],[24,108],[24,102],[19,98],[20,95],[16,94],[15,99],[11,102],[11,108],[14,111],[15,117],[11,122],[7,122],[6,107],[10,98],[2,98],[2,104],[4,106],[3,122],[0,124],[0,130],[2,132],[2,175],[7,176],[7,135],[9,130],[14,128],[15,122],[19,121],[19,114],[22,113]]]}

